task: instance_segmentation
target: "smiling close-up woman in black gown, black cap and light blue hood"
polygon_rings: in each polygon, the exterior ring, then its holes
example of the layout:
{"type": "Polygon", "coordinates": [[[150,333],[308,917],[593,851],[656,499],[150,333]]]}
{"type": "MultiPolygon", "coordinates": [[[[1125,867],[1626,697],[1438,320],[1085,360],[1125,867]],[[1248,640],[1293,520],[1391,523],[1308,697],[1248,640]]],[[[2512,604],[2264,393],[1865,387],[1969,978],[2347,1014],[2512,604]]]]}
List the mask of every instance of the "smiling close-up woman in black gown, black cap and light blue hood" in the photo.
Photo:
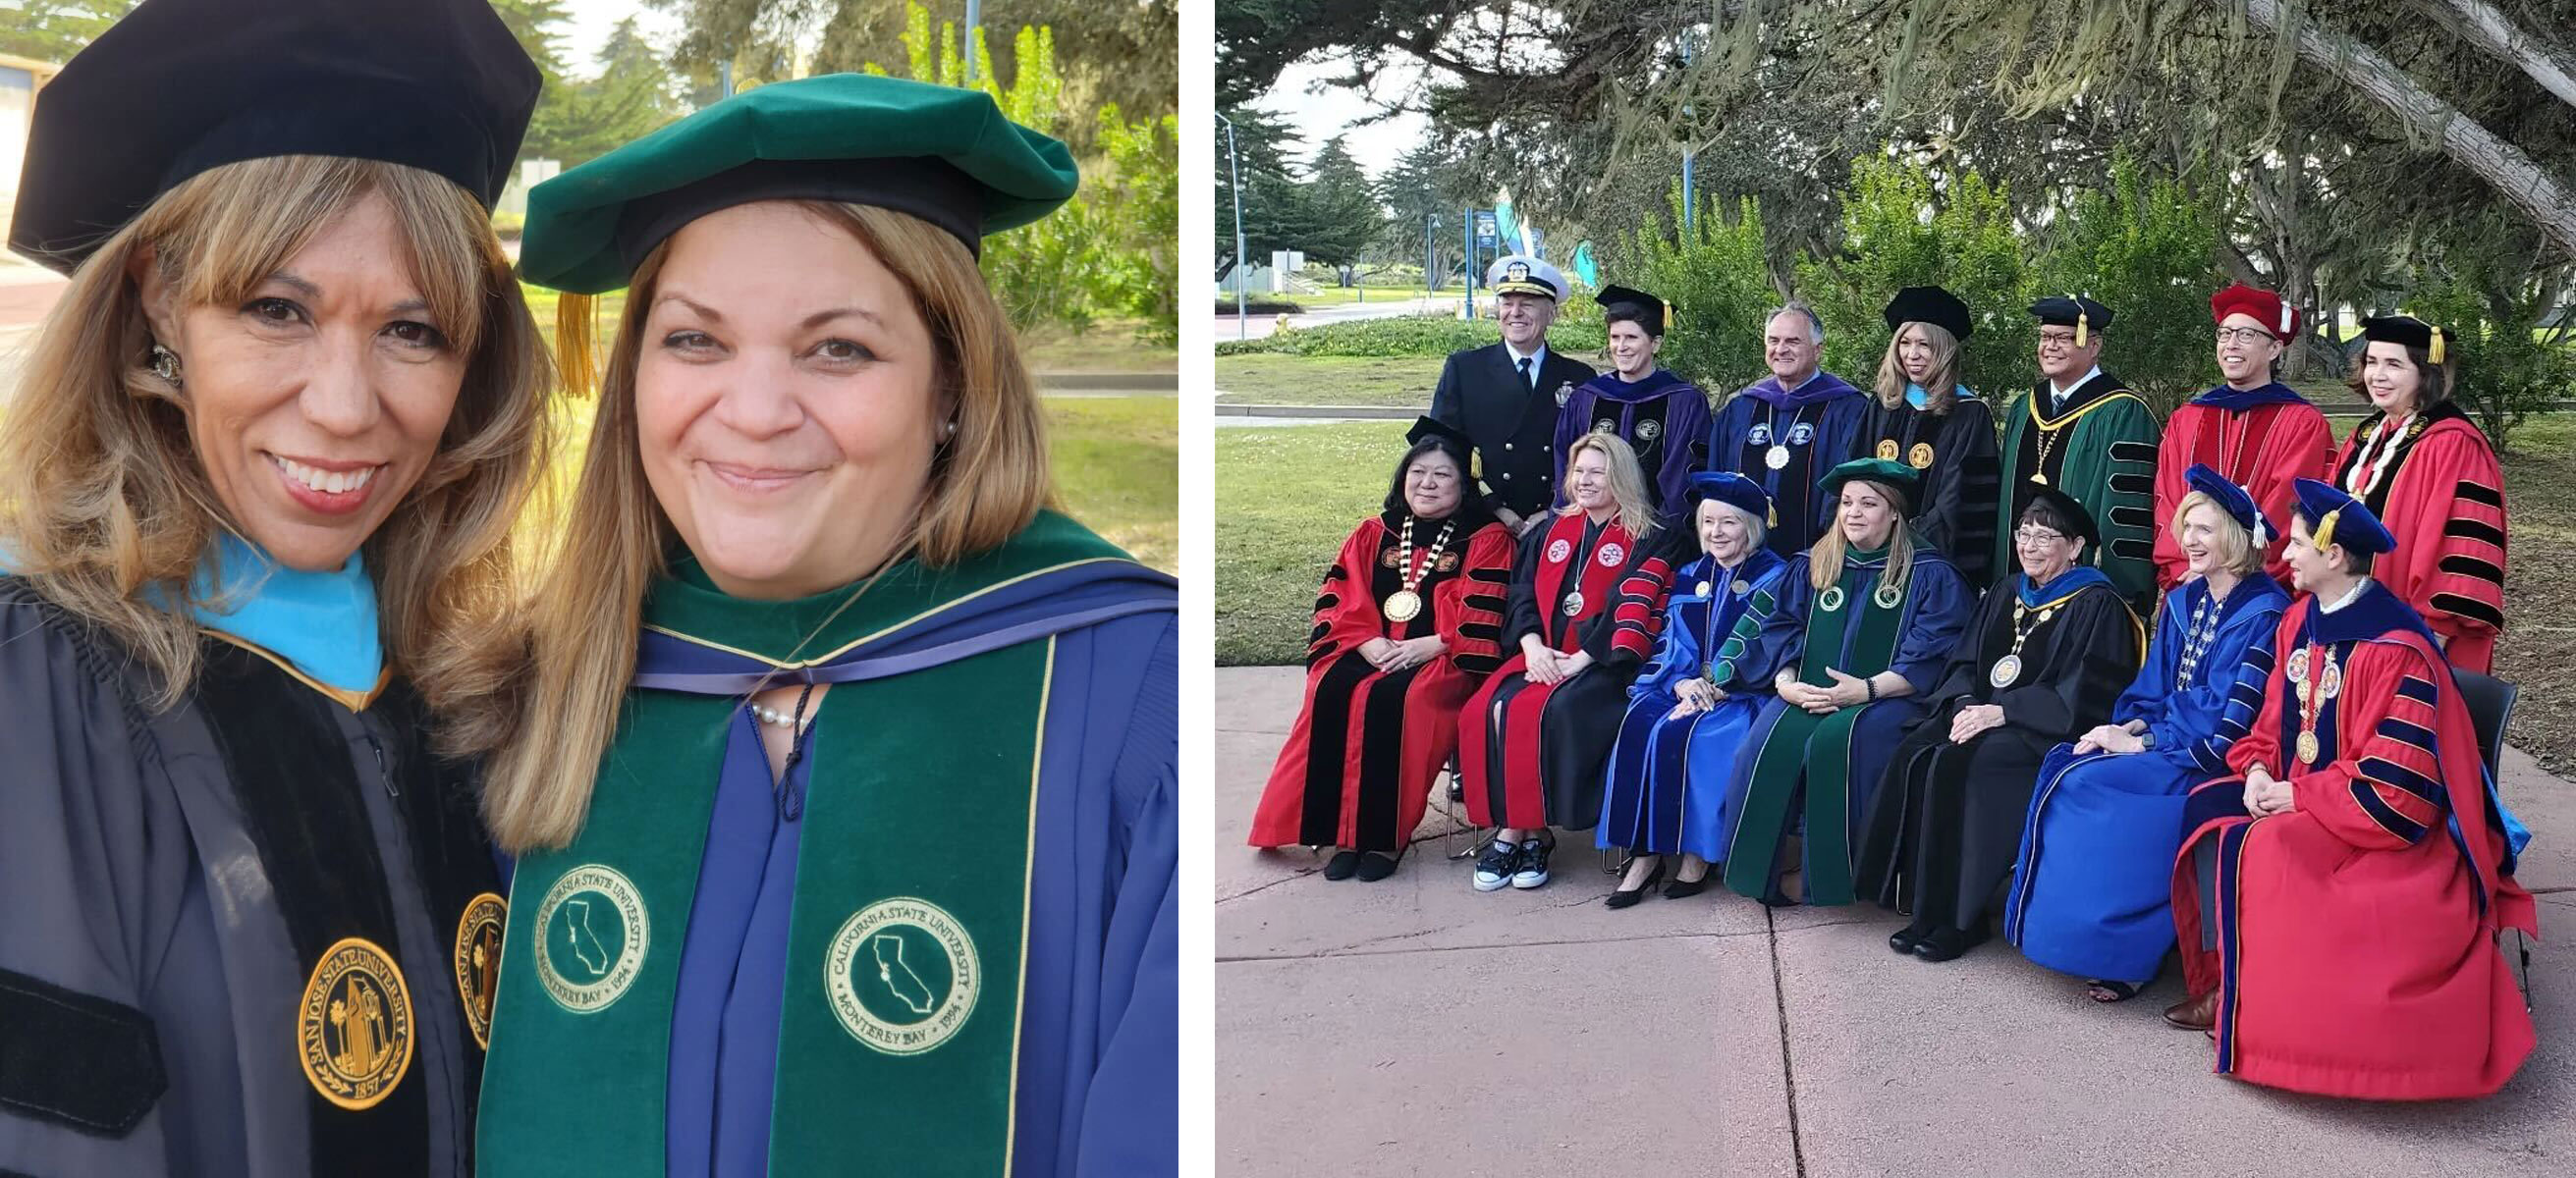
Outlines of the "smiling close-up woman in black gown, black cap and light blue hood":
{"type": "Polygon", "coordinates": [[[482,0],[147,0],[36,101],[0,420],[0,1173],[466,1175],[474,650],[541,469],[482,0]],[[433,113],[435,116],[433,116],[433,113]]]}

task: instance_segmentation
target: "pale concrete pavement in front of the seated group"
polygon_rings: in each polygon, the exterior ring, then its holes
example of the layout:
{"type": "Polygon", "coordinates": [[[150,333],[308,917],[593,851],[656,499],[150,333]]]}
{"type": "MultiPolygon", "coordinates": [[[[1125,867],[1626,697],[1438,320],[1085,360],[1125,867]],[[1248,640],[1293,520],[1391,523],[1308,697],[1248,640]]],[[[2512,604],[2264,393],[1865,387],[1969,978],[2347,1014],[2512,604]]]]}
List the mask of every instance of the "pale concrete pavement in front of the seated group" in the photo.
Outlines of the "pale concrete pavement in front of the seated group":
{"type": "Polygon", "coordinates": [[[1229,1175],[2540,1175],[2576,1173],[2576,786],[2506,753],[2540,1052],[2486,1101],[2324,1101],[2210,1075],[2210,1041],[2094,1005],[1991,941],[1888,951],[1875,907],[1600,905],[1566,838],[1476,894],[1435,797],[1404,869],[1327,884],[1242,845],[1298,668],[1216,673],[1216,1124],[1229,1175]]]}

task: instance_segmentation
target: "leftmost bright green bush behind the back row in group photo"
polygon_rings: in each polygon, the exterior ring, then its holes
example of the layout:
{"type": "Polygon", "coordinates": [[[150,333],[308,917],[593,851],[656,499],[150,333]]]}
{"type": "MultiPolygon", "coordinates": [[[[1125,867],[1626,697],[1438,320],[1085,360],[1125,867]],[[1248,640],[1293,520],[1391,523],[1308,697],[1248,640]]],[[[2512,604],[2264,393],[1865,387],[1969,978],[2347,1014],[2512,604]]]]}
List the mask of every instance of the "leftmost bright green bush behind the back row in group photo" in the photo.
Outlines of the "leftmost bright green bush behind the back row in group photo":
{"type": "Polygon", "coordinates": [[[1667,304],[1656,361],[1710,394],[1762,379],[1762,312],[1777,294],[1762,268],[1762,211],[1754,201],[1734,217],[1703,206],[1682,229],[1682,186],[1672,186],[1672,229],[1646,224],[1620,271],[1602,281],[1654,291],[1667,304]]]}

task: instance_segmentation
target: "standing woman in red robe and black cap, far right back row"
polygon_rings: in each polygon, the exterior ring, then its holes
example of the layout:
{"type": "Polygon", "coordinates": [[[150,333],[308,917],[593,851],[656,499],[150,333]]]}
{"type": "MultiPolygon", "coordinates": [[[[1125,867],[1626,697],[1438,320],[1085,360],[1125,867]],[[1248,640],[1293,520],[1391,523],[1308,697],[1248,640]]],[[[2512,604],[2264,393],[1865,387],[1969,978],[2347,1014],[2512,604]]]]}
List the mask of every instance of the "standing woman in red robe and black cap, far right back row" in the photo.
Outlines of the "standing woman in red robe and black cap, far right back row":
{"type": "Polygon", "coordinates": [[[2334,485],[2388,523],[2398,549],[2370,577],[2416,608],[2442,655],[2488,673],[2504,632],[2504,469],[2452,402],[2452,333],[2416,317],[2362,320],[2352,387],[2378,410],[2334,456],[2334,485]],[[2439,345],[2434,343],[2439,340],[2439,345]]]}

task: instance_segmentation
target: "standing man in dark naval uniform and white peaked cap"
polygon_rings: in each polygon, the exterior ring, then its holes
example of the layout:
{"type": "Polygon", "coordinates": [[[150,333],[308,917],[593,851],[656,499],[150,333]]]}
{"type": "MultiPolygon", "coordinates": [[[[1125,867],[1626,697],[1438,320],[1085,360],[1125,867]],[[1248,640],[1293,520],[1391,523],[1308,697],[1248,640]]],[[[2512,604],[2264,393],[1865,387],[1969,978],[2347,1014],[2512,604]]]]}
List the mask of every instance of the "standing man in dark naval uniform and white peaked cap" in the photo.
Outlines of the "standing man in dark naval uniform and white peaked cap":
{"type": "Polygon", "coordinates": [[[1556,410],[1592,366],[1548,348],[1566,276],[1538,258],[1497,258],[1484,273],[1497,296],[1502,343],[1450,353],[1432,387],[1430,418],[1476,446],[1468,490],[1512,534],[1528,534],[1556,503],[1556,410]]]}

